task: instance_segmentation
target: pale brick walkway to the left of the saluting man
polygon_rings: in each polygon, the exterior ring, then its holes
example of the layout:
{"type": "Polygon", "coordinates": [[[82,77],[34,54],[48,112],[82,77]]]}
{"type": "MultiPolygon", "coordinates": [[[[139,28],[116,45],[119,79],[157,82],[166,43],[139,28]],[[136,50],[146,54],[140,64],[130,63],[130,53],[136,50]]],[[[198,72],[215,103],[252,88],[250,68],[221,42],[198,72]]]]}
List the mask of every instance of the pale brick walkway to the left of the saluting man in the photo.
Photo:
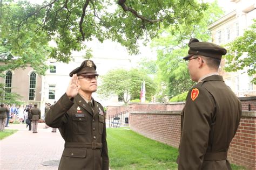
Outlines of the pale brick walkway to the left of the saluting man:
{"type": "Polygon", "coordinates": [[[45,162],[60,160],[64,140],[52,128],[43,129],[38,124],[38,133],[26,129],[26,124],[9,124],[6,129],[19,130],[0,140],[0,169],[58,169],[58,166],[44,166],[45,162]]]}

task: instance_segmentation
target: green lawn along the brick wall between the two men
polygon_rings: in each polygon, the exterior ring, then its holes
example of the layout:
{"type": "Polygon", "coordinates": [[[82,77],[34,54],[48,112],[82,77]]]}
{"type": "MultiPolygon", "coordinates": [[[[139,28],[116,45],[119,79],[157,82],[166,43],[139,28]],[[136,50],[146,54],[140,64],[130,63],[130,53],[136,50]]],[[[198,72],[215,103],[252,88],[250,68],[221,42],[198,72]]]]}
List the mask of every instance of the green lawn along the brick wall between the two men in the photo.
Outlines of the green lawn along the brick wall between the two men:
{"type": "Polygon", "coordinates": [[[111,170],[178,169],[178,148],[146,138],[129,128],[107,128],[107,146],[111,170]]]}

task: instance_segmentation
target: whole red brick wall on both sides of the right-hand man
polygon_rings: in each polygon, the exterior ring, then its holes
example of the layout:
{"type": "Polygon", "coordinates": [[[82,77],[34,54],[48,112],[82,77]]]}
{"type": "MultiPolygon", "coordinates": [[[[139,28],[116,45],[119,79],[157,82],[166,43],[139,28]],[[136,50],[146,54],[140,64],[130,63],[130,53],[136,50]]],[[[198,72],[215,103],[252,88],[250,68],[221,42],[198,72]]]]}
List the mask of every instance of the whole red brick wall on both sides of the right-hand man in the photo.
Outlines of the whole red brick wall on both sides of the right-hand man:
{"type": "MultiPolygon", "coordinates": [[[[149,105],[130,104],[130,128],[148,138],[178,147],[180,141],[180,111],[167,110],[172,108],[168,106],[170,104],[166,104],[166,110],[161,111],[158,111],[158,109],[163,109],[163,104],[149,105]]],[[[256,111],[243,111],[237,134],[233,138],[228,151],[228,160],[232,164],[245,166],[248,169],[256,169],[255,124],[256,111]]]]}

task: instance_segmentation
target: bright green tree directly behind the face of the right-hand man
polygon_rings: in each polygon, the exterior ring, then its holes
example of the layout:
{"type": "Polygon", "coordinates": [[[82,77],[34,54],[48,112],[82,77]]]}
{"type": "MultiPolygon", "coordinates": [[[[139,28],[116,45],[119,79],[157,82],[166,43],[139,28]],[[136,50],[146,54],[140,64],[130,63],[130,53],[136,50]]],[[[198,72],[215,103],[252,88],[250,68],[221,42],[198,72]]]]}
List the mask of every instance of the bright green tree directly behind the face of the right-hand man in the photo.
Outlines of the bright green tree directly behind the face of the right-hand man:
{"type": "Polygon", "coordinates": [[[161,31],[159,38],[153,39],[151,46],[157,50],[158,76],[167,87],[169,97],[184,93],[193,86],[194,82],[190,80],[187,66],[183,61],[188,52],[187,43],[190,38],[209,41],[211,36],[207,27],[222,13],[215,1],[201,14],[197,23],[170,25],[161,31]]]}

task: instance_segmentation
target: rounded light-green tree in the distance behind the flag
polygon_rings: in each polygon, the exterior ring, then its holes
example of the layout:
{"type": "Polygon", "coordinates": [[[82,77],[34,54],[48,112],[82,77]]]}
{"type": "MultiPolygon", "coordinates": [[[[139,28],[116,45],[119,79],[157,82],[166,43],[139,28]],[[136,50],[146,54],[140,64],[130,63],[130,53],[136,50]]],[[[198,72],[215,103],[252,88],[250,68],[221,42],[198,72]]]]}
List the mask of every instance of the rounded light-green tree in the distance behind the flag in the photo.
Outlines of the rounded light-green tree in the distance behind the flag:
{"type": "Polygon", "coordinates": [[[122,95],[124,103],[140,97],[140,88],[145,81],[146,99],[151,101],[156,92],[156,85],[143,70],[132,68],[131,70],[113,69],[101,77],[101,83],[97,93],[104,98],[112,95],[122,95]],[[129,98],[130,95],[130,98],[129,98]]]}

